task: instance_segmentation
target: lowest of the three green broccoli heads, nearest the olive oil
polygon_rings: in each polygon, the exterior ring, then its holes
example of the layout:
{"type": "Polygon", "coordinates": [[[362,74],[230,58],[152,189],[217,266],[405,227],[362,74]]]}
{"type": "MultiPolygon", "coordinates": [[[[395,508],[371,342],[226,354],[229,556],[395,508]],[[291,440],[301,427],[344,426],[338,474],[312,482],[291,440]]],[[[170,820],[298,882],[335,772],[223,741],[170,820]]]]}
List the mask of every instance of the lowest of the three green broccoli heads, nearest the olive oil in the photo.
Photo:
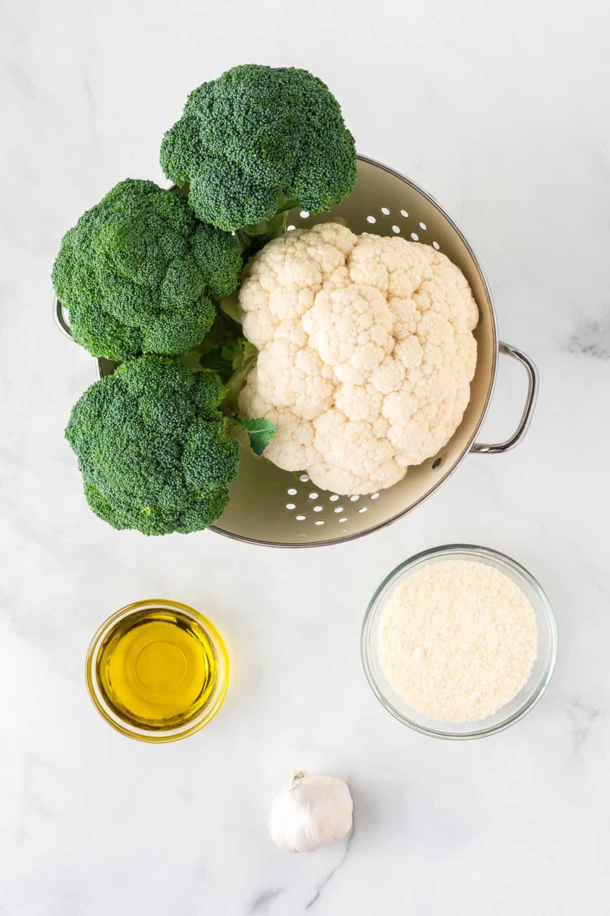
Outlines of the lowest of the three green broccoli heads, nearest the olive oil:
{"type": "Polygon", "coordinates": [[[93,512],[147,535],[186,534],[219,518],[240,460],[218,409],[225,392],[213,373],[164,356],[129,360],[88,388],[66,438],[93,512]]]}

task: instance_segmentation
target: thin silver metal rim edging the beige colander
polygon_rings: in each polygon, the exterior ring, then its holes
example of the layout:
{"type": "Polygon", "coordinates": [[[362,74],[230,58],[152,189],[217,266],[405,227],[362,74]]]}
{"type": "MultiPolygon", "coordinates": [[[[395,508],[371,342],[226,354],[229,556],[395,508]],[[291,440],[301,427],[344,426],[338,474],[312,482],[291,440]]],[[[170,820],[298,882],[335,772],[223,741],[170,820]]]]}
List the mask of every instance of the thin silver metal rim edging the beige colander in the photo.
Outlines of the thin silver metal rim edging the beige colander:
{"type": "MultiPolygon", "coordinates": [[[[417,191],[419,194],[421,194],[422,197],[425,198],[425,200],[428,201],[433,206],[433,208],[438,213],[441,214],[441,216],[444,217],[444,219],[454,229],[455,233],[459,236],[460,240],[465,245],[466,251],[468,252],[468,255],[470,256],[470,258],[472,259],[473,265],[476,267],[476,271],[485,289],[485,292],[487,295],[487,301],[489,303],[489,311],[491,314],[491,322],[492,322],[493,354],[492,354],[491,383],[487,391],[487,399],[485,402],[485,406],[483,410],[481,411],[478,421],[476,422],[476,427],[473,430],[471,437],[466,442],[466,445],[462,453],[459,455],[459,457],[455,461],[453,467],[449,471],[447,471],[447,473],[444,474],[444,476],[441,477],[438,480],[438,482],[434,484],[423,496],[420,496],[420,498],[417,499],[414,503],[402,509],[401,512],[396,513],[396,515],[392,516],[391,518],[386,518],[383,521],[379,522],[379,524],[372,525],[370,528],[364,529],[363,531],[357,531],[354,534],[346,534],[340,538],[329,538],[326,540],[315,540],[315,541],[280,542],[276,540],[260,540],[258,538],[247,537],[246,535],[235,534],[232,531],[226,531],[225,529],[220,528],[218,525],[210,525],[209,529],[207,529],[209,531],[214,531],[216,534],[221,534],[225,538],[230,538],[231,540],[241,540],[245,543],[255,544],[259,547],[273,547],[273,548],[275,547],[279,547],[279,548],[329,547],[332,544],[344,544],[349,540],[356,540],[357,538],[364,538],[366,535],[372,534],[373,531],[379,531],[380,529],[387,528],[389,525],[392,525],[394,522],[398,521],[400,518],[403,518],[404,516],[408,515],[410,512],[412,512],[413,509],[417,508],[418,506],[421,506],[422,503],[425,502],[426,499],[432,496],[433,493],[435,493],[436,490],[441,485],[443,485],[445,481],[448,480],[452,474],[455,473],[459,465],[464,461],[464,459],[466,458],[466,455],[469,453],[473,442],[475,442],[476,434],[480,430],[483,420],[485,420],[487,416],[487,410],[489,409],[489,403],[491,401],[492,395],[494,393],[494,389],[496,387],[496,375],[497,375],[497,367],[498,367],[498,324],[496,321],[496,310],[494,308],[494,302],[493,302],[493,298],[491,295],[491,289],[489,289],[489,284],[487,282],[485,271],[483,270],[483,267],[481,267],[480,261],[478,257],[476,256],[472,245],[470,245],[470,243],[468,242],[466,235],[461,231],[459,226],[455,224],[455,221],[451,218],[449,213],[447,213],[443,209],[443,207],[435,200],[435,198],[433,198],[432,194],[429,194],[427,191],[424,191],[423,188],[419,184],[417,184],[415,181],[412,181],[411,179],[408,179],[405,175],[402,175],[401,172],[397,171],[396,169],[391,169],[390,166],[385,165],[383,162],[379,162],[377,159],[372,159],[372,158],[369,158],[368,156],[362,156],[360,154],[358,158],[361,162],[366,162],[369,165],[376,167],[377,169],[383,169],[383,171],[386,171],[390,175],[393,175],[394,178],[398,178],[401,181],[403,181],[406,185],[412,188],[413,191],[417,191]]],[[[176,185],[172,185],[172,189],[175,187],[176,185]]],[[[70,327],[65,320],[63,308],[58,303],[57,297],[54,300],[53,311],[54,311],[54,319],[59,328],[59,331],[64,336],[70,337],[71,339],[70,327]]],[[[97,369],[98,369],[98,377],[102,378],[103,373],[102,373],[102,360],[101,359],[97,359],[97,369]]]]}

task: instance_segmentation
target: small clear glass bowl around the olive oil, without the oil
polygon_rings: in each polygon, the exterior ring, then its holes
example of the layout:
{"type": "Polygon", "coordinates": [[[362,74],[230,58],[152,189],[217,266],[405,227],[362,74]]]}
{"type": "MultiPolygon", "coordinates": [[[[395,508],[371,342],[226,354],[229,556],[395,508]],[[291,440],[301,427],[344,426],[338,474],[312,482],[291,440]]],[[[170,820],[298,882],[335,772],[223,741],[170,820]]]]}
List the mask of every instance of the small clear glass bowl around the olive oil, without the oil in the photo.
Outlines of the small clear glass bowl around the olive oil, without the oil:
{"type": "Polygon", "coordinates": [[[102,626],[91,639],[91,645],[87,651],[85,678],[87,681],[87,689],[89,690],[89,695],[91,696],[95,708],[106,722],[112,725],[112,728],[115,728],[117,732],[121,732],[122,735],[135,738],[138,741],[148,741],[159,744],[167,741],[178,741],[180,738],[186,738],[189,735],[193,735],[195,732],[198,732],[200,728],[203,728],[204,725],[208,725],[218,713],[220,706],[224,702],[227,688],[229,687],[229,656],[219,631],[210,623],[207,617],[199,614],[198,611],[194,610],[192,607],[188,607],[188,605],[180,604],[178,601],[160,601],[151,598],[146,601],[135,601],[132,605],[125,605],[121,610],[112,614],[107,620],[104,620],[102,626]],[[116,627],[117,623],[124,617],[134,615],[146,609],[151,610],[152,608],[179,611],[182,615],[189,617],[197,623],[198,627],[204,630],[208,638],[209,646],[213,649],[217,664],[217,677],[214,688],[209,695],[207,703],[198,713],[181,725],[174,725],[166,729],[155,728],[154,731],[132,725],[116,714],[112,706],[107,703],[100,689],[96,673],[98,653],[100,649],[102,649],[104,639],[108,636],[110,631],[116,627]]]}

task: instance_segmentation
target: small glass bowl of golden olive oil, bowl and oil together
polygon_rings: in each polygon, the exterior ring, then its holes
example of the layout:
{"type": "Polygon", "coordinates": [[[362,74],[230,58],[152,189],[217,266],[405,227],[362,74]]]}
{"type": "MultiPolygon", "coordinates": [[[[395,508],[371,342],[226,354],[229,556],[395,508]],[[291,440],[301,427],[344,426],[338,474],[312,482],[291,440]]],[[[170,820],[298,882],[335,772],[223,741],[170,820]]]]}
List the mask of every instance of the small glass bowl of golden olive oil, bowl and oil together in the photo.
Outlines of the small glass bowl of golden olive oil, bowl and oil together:
{"type": "Polygon", "coordinates": [[[91,640],[87,687],[98,712],[139,741],[177,741],[218,713],[229,657],[216,629],[177,601],[137,601],[104,621],[91,640]]]}

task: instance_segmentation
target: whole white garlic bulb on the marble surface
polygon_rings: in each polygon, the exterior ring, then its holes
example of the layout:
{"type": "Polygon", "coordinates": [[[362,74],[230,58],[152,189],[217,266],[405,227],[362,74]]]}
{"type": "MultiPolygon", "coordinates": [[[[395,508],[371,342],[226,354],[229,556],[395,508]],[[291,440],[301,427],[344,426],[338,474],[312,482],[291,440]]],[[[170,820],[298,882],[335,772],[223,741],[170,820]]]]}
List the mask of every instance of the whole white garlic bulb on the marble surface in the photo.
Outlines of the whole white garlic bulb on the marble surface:
{"type": "Polygon", "coordinates": [[[273,799],[269,833],[281,849],[311,853],[349,833],[353,808],[343,780],[297,769],[288,787],[273,799]]]}

